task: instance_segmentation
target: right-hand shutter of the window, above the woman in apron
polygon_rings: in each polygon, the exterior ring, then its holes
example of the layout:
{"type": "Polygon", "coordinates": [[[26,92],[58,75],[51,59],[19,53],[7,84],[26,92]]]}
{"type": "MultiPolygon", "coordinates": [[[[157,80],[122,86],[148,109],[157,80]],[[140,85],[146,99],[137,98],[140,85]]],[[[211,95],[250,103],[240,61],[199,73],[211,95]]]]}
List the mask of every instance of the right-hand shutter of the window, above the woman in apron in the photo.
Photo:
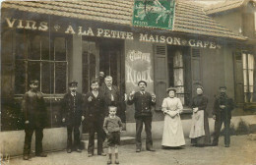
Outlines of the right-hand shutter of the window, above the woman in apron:
{"type": "Polygon", "coordinates": [[[191,48],[192,96],[196,95],[196,86],[202,84],[200,49],[191,48]]]}

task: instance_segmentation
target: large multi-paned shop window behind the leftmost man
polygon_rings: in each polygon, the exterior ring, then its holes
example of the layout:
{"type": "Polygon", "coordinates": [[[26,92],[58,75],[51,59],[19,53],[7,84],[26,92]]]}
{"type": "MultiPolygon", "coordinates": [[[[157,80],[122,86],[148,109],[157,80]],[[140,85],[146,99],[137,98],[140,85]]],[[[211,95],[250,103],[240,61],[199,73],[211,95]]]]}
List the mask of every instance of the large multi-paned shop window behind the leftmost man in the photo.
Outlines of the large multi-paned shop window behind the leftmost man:
{"type": "Polygon", "coordinates": [[[62,36],[45,33],[16,32],[15,94],[29,90],[32,79],[39,81],[44,94],[67,91],[67,41],[62,36]]]}

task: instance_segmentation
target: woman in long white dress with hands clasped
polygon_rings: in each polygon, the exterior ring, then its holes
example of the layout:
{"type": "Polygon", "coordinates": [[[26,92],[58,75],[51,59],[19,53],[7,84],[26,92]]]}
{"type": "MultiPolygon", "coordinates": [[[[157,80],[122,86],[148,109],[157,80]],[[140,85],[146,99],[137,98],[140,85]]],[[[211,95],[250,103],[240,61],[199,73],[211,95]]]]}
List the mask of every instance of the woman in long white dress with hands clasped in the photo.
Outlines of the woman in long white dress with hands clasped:
{"type": "Polygon", "coordinates": [[[175,97],[176,89],[167,88],[168,97],[162,101],[162,111],[164,114],[164,125],[161,145],[178,147],[185,145],[185,138],[180,120],[180,113],[183,110],[179,98],[175,97]]]}

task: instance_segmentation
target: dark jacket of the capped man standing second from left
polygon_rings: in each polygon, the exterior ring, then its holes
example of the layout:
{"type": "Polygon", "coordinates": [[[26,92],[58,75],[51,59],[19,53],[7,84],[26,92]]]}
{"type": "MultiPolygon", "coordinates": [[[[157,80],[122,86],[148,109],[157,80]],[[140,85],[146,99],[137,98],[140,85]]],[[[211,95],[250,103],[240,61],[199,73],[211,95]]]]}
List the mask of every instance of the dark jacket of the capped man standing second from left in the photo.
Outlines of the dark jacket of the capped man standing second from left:
{"type": "Polygon", "coordinates": [[[75,99],[70,92],[62,99],[62,118],[65,118],[67,126],[80,126],[83,111],[82,94],[76,92],[75,99]]]}

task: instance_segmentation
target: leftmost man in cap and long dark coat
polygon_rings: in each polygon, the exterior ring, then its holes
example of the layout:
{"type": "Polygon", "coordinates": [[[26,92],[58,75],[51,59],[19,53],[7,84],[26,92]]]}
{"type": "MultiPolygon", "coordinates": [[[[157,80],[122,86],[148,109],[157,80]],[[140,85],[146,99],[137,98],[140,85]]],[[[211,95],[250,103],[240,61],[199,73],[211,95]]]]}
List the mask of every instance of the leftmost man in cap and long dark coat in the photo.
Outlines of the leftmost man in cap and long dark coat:
{"type": "Polygon", "coordinates": [[[25,93],[22,110],[25,118],[24,160],[29,160],[31,153],[32,134],[35,131],[35,156],[46,157],[42,153],[43,128],[46,126],[46,107],[43,95],[37,90],[39,82],[33,80],[31,89],[25,93]]]}

